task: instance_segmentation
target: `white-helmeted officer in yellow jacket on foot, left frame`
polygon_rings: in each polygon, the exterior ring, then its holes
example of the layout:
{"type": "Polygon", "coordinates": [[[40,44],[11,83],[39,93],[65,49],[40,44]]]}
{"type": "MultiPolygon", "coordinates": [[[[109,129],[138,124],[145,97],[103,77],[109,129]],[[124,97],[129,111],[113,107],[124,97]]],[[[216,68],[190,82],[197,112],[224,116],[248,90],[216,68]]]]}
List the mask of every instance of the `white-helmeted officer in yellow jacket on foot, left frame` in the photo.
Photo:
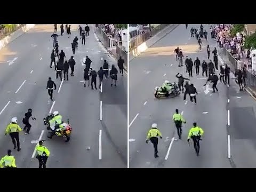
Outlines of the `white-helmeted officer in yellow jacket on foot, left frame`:
{"type": "Polygon", "coordinates": [[[5,129],[5,136],[7,134],[10,134],[12,138],[12,143],[14,145],[14,149],[16,149],[16,141],[17,141],[18,151],[20,151],[21,148],[20,148],[19,132],[22,131],[22,129],[20,128],[20,125],[18,125],[17,123],[18,123],[18,118],[13,117],[11,123],[7,125],[5,129]]]}

